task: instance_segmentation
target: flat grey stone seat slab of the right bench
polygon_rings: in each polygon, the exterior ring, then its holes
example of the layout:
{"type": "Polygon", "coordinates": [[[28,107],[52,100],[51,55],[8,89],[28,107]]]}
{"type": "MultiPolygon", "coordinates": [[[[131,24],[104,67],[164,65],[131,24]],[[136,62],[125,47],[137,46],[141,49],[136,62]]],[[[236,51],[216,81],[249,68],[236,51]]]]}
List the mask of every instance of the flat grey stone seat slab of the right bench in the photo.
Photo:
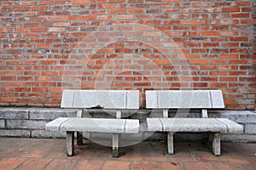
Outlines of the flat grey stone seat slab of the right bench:
{"type": "Polygon", "coordinates": [[[148,118],[148,131],[242,133],[243,127],[226,118],[148,118]]]}

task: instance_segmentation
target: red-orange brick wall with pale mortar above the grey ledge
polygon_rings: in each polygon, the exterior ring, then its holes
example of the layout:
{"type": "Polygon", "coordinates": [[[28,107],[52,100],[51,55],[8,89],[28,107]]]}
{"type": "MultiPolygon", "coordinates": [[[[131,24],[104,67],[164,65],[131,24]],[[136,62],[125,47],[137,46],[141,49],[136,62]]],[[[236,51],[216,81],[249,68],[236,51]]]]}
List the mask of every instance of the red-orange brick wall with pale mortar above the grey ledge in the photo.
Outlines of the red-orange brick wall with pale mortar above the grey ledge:
{"type": "Polygon", "coordinates": [[[0,2],[0,106],[59,107],[63,88],[221,89],[255,109],[255,2],[0,2]]]}

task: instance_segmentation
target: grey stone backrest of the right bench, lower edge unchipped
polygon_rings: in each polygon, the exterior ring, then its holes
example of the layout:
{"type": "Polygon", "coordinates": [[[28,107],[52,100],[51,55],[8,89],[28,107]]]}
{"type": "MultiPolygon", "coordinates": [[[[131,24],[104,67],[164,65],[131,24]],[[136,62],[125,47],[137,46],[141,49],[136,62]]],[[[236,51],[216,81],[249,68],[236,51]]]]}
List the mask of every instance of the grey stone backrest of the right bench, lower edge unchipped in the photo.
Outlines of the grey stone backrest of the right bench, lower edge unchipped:
{"type": "Polygon", "coordinates": [[[220,109],[224,99],[221,90],[148,90],[146,108],[220,109]]]}

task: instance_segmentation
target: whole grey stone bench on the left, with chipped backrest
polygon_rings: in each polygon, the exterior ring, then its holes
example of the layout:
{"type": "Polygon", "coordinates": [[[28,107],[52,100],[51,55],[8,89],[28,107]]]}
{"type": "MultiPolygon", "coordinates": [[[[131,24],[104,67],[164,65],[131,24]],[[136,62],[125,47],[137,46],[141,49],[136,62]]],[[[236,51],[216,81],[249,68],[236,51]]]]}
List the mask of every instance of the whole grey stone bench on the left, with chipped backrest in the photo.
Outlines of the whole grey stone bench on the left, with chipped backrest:
{"type": "Polygon", "coordinates": [[[46,124],[50,131],[67,132],[67,156],[74,154],[74,133],[77,143],[83,144],[81,132],[113,133],[113,156],[119,156],[119,133],[138,133],[139,120],[121,119],[122,110],[139,108],[139,91],[137,90],[64,90],[61,107],[78,109],[77,117],[59,117],[46,124]],[[113,118],[84,118],[83,109],[98,108],[115,110],[113,118]]]}

